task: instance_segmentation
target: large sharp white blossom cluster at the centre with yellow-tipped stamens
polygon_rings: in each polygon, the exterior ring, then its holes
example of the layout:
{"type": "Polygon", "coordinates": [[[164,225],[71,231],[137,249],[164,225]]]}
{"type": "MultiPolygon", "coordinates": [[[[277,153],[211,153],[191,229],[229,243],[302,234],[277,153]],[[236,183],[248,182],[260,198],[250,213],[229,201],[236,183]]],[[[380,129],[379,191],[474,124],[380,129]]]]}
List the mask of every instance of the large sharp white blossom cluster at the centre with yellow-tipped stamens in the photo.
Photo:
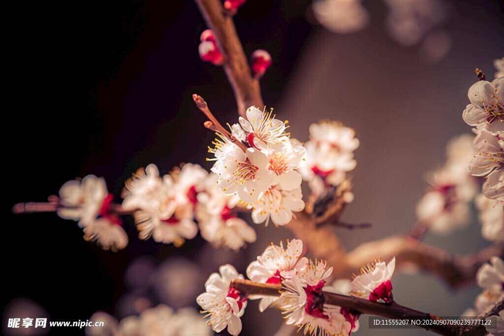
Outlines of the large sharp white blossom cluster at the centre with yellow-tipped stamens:
{"type": "Polygon", "coordinates": [[[273,109],[251,106],[245,114],[230,126],[228,135],[216,132],[214,147],[209,147],[215,158],[207,160],[215,161],[211,171],[218,176],[216,184],[252,210],[254,223],[268,225],[271,219],[285,225],[293,212],[304,209],[302,178],[296,169],[304,165],[306,150],[285,132],[288,121],[276,119],[273,109]]]}

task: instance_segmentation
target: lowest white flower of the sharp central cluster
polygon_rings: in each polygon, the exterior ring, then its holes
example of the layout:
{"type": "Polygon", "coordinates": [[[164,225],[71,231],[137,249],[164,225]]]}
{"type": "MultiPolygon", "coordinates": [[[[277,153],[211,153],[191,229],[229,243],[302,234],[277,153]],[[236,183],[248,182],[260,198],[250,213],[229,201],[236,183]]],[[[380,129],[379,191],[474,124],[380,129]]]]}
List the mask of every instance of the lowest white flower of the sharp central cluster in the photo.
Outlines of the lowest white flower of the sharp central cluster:
{"type": "Polygon", "coordinates": [[[264,223],[266,226],[271,220],[275,225],[288,224],[294,214],[304,209],[301,187],[294,190],[282,190],[279,186],[268,189],[258,201],[249,206],[252,210],[252,220],[256,224],[264,223]]]}

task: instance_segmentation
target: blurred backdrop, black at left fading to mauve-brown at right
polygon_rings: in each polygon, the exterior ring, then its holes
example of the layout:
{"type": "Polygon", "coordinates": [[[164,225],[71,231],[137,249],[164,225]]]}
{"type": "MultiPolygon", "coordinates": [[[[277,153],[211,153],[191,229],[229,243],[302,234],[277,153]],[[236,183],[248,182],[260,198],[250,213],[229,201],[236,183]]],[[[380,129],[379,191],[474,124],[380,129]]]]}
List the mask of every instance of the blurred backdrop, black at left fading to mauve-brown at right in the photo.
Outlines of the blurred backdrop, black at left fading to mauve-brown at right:
{"type": "MultiPolygon", "coordinates": [[[[195,298],[219,265],[229,262],[244,273],[271,241],[292,238],[288,228],[252,224],[258,241],[237,253],[214,249],[199,235],[176,248],[137,239],[128,218],[123,227],[130,243],[113,253],[85,242],[75,222],[54,213],[12,215],[15,203],[45,201],[77,176],[105,177],[120,201],[124,181],[150,163],[162,174],[181,162],[209,170],[206,145],[213,135],[191,94],[203,96],[223,121],[235,122],[237,114],[222,69],[198,55],[206,25],[192,1],[8,6],[5,334],[12,331],[6,309],[16,298],[38,303],[32,308],[44,310],[41,316],[61,321],[86,320],[98,310],[120,319],[157,303],[198,308],[195,298]]],[[[415,222],[425,172],[443,164],[451,137],[470,133],[461,115],[477,79],[474,68],[492,79],[493,59],[504,56],[504,15],[499,2],[480,0],[363,1],[344,11],[328,6],[249,0],[234,21],[248,56],[270,52],[263,98],[280,119],[289,119],[292,137],[308,140],[308,124],[324,118],[356,130],[355,200],[343,220],[372,227],[336,229],[352,249],[404,234],[415,222]]],[[[468,228],[446,237],[428,234],[426,241],[454,253],[489,244],[476,216],[468,228]]],[[[430,275],[394,279],[396,301],[437,315],[460,315],[479,292],[476,286],[454,292],[430,275]]],[[[272,335],[281,315],[261,314],[257,305],[249,302],[242,334],[272,335]]],[[[364,317],[357,334],[404,331],[368,330],[364,317]]],[[[51,330],[59,332],[69,329],[51,330]]]]}

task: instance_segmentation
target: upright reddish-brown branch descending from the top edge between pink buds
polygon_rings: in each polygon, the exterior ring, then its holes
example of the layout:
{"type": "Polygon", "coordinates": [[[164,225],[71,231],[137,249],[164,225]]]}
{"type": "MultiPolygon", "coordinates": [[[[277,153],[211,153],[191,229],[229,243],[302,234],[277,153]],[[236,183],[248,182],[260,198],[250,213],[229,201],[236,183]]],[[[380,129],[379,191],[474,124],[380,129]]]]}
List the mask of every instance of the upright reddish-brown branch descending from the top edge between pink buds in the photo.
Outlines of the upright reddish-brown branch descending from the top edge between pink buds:
{"type": "Polygon", "coordinates": [[[224,71],[236,97],[238,114],[245,116],[249,106],[263,106],[264,103],[259,80],[251,75],[233,20],[224,14],[220,0],[196,0],[196,3],[224,56],[224,71]]]}

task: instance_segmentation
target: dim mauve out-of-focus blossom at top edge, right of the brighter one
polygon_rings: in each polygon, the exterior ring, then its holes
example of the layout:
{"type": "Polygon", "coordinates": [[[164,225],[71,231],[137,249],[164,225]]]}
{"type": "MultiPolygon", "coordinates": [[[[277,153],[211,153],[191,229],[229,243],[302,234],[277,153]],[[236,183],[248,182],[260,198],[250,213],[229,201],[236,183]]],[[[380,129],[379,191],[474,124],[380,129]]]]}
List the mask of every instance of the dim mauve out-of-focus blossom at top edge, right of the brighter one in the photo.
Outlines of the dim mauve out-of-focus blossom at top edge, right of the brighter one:
{"type": "MultiPolygon", "coordinates": [[[[409,46],[420,42],[449,16],[444,0],[385,0],[389,7],[386,26],[392,37],[409,46]]],[[[432,42],[430,42],[432,43],[432,42]]]]}

